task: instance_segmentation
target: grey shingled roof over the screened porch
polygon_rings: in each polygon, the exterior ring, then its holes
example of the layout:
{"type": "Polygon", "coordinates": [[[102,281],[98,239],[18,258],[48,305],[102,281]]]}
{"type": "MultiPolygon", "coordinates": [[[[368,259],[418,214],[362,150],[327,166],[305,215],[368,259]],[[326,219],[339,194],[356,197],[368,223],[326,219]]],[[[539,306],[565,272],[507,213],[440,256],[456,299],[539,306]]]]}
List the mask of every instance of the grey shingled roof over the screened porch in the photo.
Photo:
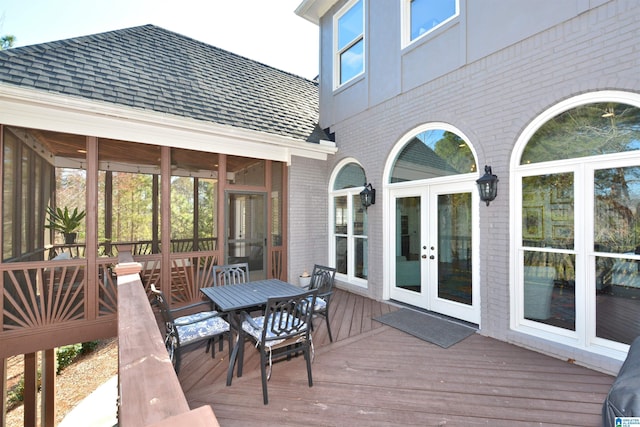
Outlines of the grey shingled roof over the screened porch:
{"type": "Polygon", "coordinates": [[[154,25],[0,51],[0,83],[328,139],[316,82],[154,25]]]}

